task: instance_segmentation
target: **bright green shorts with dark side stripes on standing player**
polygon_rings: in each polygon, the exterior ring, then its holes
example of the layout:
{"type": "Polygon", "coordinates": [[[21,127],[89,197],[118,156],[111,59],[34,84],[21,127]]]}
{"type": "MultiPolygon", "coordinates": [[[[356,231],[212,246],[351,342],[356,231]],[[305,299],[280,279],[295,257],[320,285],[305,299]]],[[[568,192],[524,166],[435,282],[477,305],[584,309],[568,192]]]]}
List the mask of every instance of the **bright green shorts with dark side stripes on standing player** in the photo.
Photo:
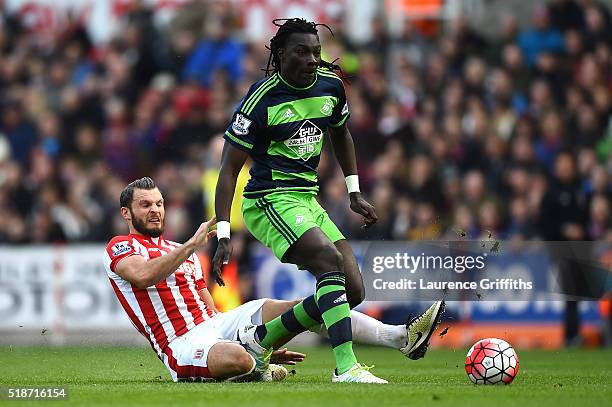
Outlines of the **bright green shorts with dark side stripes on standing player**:
{"type": "Polygon", "coordinates": [[[307,192],[274,192],[261,198],[244,198],[242,216],[249,231],[281,261],[307,230],[320,228],[332,243],[344,235],[307,192]]]}

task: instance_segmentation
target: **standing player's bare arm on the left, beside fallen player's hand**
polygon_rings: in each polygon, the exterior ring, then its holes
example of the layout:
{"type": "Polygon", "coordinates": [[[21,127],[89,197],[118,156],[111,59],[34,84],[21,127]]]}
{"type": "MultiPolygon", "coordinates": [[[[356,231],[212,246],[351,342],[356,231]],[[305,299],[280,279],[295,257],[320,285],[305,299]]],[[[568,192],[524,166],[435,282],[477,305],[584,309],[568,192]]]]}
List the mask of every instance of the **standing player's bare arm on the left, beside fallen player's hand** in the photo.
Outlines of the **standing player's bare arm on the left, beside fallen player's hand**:
{"type": "Polygon", "coordinates": [[[227,141],[225,142],[221,156],[219,180],[217,181],[217,189],[215,191],[215,214],[217,215],[217,220],[218,222],[228,222],[228,237],[219,235],[219,245],[213,257],[213,273],[217,284],[220,286],[225,285],[221,278],[221,267],[229,262],[232,254],[232,245],[229,240],[229,221],[234,191],[236,190],[236,179],[247,158],[248,154],[246,152],[237,149],[227,141]]]}

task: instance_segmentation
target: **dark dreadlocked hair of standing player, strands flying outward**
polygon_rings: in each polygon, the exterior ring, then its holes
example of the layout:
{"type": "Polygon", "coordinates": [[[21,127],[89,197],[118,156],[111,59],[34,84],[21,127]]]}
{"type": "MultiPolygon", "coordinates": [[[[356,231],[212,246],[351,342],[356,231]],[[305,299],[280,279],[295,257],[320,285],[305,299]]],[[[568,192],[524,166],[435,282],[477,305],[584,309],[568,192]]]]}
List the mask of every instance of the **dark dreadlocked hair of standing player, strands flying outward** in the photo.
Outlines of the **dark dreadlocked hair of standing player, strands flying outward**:
{"type": "MultiPolygon", "coordinates": [[[[334,35],[333,31],[327,24],[313,23],[312,21],[306,21],[303,18],[277,18],[272,20],[272,24],[278,27],[278,31],[276,32],[276,35],[270,39],[270,46],[266,47],[268,50],[270,50],[268,65],[266,66],[266,69],[264,69],[266,76],[280,72],[280,56],[278,55],[278,50],[287,45],[287,40],[291,34],[314,34],[318,38],[319,32],[317,27],[321,26],[327,28],[332,36],[334,35]]],[[[319,66],[331,72],[335,71],[338,73],[340,78],[343,80],[348,80],[348,78],[345,77],[342,68],[340,68],[340,65],[335,63],[337,60],[338,59],[334,59],[332,62],[327,62],[321,59],[319,66]]]]}

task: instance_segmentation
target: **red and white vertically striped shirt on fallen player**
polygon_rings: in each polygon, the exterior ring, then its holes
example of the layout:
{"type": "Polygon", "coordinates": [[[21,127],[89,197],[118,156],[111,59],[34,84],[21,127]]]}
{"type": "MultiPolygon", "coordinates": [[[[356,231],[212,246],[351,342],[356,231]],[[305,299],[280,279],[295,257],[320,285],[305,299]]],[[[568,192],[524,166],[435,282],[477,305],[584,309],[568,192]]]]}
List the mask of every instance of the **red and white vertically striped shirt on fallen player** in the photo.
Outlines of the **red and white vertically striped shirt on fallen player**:
{"type": "Polygon", "coordinates": [[[119,260],[163,256],[181,246],[139,234],[116,236],[106,246],[104,268],[119,302],[138,331],[149,340],[160,358],[174,338],[213,317],[198,294],[206,287],[198,256],[192,254],[165,280],[148,288],[136,288],[115,273],[119,260]]]}

